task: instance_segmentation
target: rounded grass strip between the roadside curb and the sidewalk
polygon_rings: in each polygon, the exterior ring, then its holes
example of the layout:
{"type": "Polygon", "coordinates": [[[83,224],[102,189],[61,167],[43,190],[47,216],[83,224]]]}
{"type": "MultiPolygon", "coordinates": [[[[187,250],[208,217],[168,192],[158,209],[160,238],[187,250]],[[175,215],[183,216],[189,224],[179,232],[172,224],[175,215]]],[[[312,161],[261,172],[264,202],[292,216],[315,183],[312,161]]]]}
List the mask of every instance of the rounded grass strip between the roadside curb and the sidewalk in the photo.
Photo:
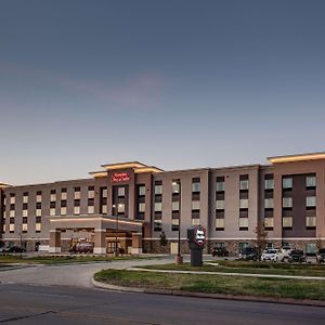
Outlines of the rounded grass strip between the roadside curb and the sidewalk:
{"type": "Polygon", "coordinates": [[[113,285],[140,288],[325,300],[325,281],[168,274],[126,270],[103,270],[98,272],[94,278],[113,285]]]}

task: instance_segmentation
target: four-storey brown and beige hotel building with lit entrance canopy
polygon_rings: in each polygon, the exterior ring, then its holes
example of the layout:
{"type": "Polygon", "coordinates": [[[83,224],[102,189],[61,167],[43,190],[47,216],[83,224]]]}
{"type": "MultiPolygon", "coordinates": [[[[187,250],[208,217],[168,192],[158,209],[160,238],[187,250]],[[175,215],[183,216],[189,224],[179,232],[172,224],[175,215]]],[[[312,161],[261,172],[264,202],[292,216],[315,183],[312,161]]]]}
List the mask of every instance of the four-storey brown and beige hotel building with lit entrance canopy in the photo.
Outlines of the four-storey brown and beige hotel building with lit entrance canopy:
{"type": "Polygon", "coordinates": [[[325,244],[325,153],[270,157],[269,165],[164,171],[144,164],[102,165],[91,178],[12,186],[0,183],[0,239],[27,250],[67,251],[77,240],[94,253],[188,252],[186,230],[207,229],[232,255],[255,245],[263,224],[268,245],[312,252],[325,244]],[[160,236],[167,238],[161,246],[160,236]]]}

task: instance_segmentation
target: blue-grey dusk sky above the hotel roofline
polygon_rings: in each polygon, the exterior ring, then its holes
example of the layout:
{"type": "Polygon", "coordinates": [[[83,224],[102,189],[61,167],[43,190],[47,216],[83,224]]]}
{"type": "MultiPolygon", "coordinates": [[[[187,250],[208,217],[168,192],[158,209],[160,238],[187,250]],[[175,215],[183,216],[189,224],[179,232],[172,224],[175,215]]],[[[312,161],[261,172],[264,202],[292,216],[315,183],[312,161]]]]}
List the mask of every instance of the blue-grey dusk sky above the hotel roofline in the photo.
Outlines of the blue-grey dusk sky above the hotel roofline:
{"type": "Polygon", "coordinates": [[[0,1],[0,182],[325,151],[323,0],[0,1]]]}

